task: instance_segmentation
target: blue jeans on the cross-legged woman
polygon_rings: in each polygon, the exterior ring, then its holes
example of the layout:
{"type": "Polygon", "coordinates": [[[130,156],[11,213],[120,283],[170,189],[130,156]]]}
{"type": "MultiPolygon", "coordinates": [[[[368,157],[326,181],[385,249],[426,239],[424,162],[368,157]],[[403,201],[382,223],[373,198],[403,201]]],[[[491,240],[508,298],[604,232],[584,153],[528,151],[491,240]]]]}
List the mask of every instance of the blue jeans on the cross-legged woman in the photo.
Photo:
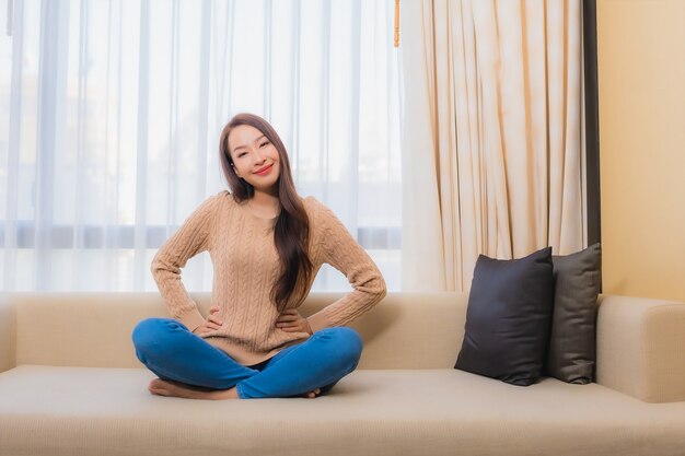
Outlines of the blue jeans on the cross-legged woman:
{"type": "Polygon", "coordinates": [[[162,379],[211,389],[236,387],[241,399],[327,393],[359,363],[362,341],[348,327],[325,328],[275,356],[244,366],[172,318],[148,318],[132,334],[138,359],[162,379]]]}

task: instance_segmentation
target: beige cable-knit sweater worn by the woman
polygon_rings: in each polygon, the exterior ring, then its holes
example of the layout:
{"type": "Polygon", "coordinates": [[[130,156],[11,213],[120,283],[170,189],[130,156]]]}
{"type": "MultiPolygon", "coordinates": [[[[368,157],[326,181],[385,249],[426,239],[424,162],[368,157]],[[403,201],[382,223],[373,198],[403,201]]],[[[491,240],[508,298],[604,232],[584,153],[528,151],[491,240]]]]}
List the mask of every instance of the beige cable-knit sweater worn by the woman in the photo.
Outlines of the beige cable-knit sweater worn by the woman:
{"type": "MultiPolygon", "coordinates": [[[[383,299],[385,282],[328,208],[313,197],[302,202],[310,218],[309,255],[314,266],[306,293],[324,262],[341,271],[355,289],[307,320],[313,331],[346,325],[383,299]]],[[[152,274],[171,315],[194,330],[205,317],[186,292],[181,269],[193,256],[209,252],[214,270],[211,301],[220,307],[223,325],[202,337],[243,365],[257,364],[310,337],[276,327],[279,312],[269,297],[280,267],[274,244],[276,220],[257,217],[245,201],[237,203],[222,191],[202,202],[152,260],[152,274]]],[[[291,302],[288,308],[301,303],[291,302]]]]}

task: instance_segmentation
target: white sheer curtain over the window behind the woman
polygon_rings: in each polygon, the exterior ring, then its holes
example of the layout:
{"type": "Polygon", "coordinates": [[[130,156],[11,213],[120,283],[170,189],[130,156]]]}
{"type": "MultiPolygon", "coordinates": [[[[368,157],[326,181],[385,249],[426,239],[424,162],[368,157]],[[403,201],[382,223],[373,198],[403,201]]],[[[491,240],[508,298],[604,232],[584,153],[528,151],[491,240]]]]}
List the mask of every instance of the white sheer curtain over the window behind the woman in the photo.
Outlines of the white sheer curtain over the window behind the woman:
{"type": "MultiPolygon", "coordinates": [[[[2,290],[155,290],[152,256],[225,188],[223,125],[269,119],[301,195],[399,288],[392,1],[1,2],[2,290]]],[[[210,290],[202,254],[189,290],[210,290]]],[[[316,290],[345,290],[322,270],[316,290]]]]}

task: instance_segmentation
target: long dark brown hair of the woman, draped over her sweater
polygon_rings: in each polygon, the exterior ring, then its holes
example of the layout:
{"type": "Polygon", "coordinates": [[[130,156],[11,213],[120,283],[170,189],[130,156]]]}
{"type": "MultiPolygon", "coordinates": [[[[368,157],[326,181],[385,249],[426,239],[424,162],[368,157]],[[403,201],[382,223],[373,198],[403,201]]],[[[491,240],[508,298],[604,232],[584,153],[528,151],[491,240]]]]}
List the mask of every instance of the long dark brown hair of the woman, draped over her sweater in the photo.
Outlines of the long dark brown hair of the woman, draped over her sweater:
{"type": "Polygon", "coordinates": [[[304,210],[304,204],[302,204],[295,191],[288,152],[283,142],[269,122],[254,114],[242,113],[235,115],[223,127],[221,140],[219,141],[221,167],[233,198],[237,202],[242,202],[253,198],[255,195],[254,187],[235,174],[231,150],[229,149],[229,135],[235,127],[241,125],[248,125],[259,130],[278,151],[280,175],[277,186],[278,199],[282,209],[274,229],[274,243],[280,257],[281,273],[271,288],[271,301],[274,301],[279,311],[282,311],[293,295],[298,300],[304,297],[305,285],[312,277],[312,261],[307,255],[310,219],[304,210]]]}

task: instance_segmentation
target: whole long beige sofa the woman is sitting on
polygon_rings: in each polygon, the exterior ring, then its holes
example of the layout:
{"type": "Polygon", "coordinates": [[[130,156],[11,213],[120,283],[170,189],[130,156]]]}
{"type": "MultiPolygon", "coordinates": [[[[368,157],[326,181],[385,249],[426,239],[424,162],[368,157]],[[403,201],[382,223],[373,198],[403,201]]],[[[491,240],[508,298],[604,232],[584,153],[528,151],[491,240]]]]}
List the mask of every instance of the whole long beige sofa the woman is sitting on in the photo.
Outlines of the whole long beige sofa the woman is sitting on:
{"type": "Polygon", "coordinates": [[[3,293],[0,455],[685,455],[685,304],[597,302],[589,385],[454,370],[468,295],[390,293],[351,325],[360,364],[327,395],[204,401],[147,389],[130,334],[167,316],[158,293],[3,293]]]}

